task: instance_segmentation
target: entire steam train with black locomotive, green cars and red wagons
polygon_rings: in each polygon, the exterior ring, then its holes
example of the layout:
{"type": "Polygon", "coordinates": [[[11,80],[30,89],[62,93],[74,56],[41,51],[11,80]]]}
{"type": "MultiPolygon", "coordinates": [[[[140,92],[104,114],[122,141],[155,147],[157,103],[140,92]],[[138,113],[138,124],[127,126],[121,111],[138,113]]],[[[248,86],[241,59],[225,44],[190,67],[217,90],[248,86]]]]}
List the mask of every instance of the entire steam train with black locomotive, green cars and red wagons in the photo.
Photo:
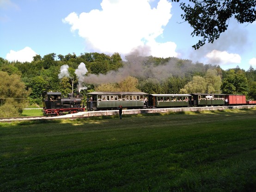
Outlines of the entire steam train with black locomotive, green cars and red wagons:
{"type": "Polygon", "coordinates": [[[60,92],[47,92],[43,99],[44,115],[60,115],[91,110],[123,108],[177,108],[177,107],[206,107],[224,105],[255,105],[256,101],[246,101],[244,95],[226,94],[147,94],[144,92],[91,92],[87,94],[86,108],[77,94],[61,97],[60,92]]]}

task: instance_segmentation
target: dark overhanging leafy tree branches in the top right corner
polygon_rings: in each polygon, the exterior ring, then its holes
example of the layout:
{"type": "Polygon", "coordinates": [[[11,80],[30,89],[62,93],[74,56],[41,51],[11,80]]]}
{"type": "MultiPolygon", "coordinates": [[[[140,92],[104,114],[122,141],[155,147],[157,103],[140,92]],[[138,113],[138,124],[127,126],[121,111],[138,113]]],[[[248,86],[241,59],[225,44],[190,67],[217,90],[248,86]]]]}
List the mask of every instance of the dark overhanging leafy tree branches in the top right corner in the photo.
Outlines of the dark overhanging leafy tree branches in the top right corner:
{"type": "MultiPolygon", "coordinates": [[[[172,0],[179,2],[180,0],[172,0]]],[[[255,0],[181,0],[181,17],[194,31],[192,36],[201,36],[192,47],[200,48],[206,41],[213,43],[219,35],[227,30],[228,21],[234,16],[238,23],[252,23],[256,20],[255,0]],[[194,5],[191,5],[193,3],[194,5]]]]}

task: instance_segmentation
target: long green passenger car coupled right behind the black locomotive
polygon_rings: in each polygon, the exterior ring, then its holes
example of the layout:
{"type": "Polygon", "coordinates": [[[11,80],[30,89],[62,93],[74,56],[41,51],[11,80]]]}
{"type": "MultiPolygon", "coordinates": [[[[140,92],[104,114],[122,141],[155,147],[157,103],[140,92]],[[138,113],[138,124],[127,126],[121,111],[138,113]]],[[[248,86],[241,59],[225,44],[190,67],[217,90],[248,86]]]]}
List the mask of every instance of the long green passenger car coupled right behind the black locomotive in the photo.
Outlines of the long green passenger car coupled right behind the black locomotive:
{"type": "Polygon", "coordinates": [[[144,108],[144,92],[91,92],[86,94],[88,110],[123,108],[144,108]]]}

